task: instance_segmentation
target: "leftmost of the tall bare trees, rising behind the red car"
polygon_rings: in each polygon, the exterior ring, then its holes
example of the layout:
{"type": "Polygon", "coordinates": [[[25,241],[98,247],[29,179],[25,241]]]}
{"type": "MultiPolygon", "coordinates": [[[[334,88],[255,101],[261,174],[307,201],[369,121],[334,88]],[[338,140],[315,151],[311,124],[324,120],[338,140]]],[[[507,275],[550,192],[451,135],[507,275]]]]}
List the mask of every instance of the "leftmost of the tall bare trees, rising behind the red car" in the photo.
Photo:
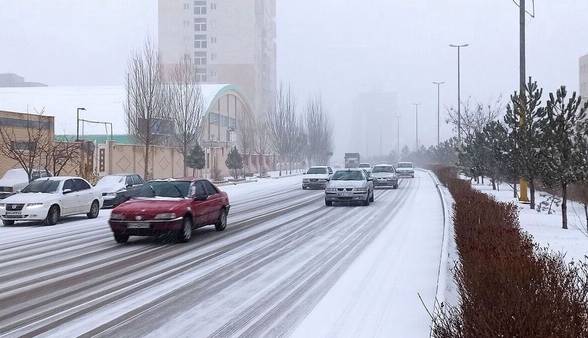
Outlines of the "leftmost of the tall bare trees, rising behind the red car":
{"type": "Polygon", "coordinates": [[[149,148],[156,142],[154,127],[164,106],[160,57],[150,41],[131,57],[126,90],[126,122],[129,133],[145,145],[144,176],[149,178],[149,148]]]}

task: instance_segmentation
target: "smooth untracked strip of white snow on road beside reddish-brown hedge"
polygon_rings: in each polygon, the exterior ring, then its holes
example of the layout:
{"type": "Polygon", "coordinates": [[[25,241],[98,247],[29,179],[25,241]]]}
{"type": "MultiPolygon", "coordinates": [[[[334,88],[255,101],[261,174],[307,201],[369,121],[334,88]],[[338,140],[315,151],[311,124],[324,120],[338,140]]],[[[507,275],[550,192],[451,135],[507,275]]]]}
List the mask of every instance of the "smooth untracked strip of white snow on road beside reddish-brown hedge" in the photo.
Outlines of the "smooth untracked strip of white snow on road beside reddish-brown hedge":
{"type": "Polygon", "coordinates": [[[435,183],[417,187],[376,240],[319,302],[294,337],[427,337],[443,238],[435,183]]]}

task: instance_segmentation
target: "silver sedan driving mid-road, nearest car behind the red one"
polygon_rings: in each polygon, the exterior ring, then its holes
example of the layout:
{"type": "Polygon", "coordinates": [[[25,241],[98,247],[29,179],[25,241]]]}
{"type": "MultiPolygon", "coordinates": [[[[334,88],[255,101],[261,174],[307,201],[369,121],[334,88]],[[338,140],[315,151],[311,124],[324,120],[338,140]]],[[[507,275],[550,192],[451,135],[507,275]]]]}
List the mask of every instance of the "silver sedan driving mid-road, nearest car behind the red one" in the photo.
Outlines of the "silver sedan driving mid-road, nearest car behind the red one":
{"type": "Polygon", "coordinates": [[[374,186],[363,169],[337,170],[325,188],[325,205],[335,202],[361,202],[368,206],[374,201],[374,186]]]}

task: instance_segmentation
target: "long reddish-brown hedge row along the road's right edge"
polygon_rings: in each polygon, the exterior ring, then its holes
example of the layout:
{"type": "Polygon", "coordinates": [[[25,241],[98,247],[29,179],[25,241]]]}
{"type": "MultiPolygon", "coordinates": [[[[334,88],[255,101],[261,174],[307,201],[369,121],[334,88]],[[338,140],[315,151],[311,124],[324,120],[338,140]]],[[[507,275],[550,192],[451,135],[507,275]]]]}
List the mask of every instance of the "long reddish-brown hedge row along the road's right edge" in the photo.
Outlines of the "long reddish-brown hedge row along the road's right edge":
{"type": "Polygon", "coordinates": [[[453,168],[434,169],[451,192],[460,297],[442,306],[434,337],[588,337],[585,264],[535,246],[517,208],[472,189],[453,168]]]}

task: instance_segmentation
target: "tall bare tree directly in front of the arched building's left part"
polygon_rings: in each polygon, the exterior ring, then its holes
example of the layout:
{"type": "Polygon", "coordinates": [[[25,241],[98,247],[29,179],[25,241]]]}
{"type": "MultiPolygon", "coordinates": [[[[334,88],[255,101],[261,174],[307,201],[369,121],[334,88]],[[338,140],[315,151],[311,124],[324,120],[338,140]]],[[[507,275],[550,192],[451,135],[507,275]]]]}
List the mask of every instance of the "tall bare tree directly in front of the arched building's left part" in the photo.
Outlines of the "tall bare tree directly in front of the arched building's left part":
{"type": "Polygon", "coordinates": [[[205,113],[196,65],[190,57],[183,58],[173,67],[165,88],[165,108],[169,109],[174,124],[174,139],[184,156],[184,176],[187,176],[187,157],[190,147],[200,137],[205,113]]]}

